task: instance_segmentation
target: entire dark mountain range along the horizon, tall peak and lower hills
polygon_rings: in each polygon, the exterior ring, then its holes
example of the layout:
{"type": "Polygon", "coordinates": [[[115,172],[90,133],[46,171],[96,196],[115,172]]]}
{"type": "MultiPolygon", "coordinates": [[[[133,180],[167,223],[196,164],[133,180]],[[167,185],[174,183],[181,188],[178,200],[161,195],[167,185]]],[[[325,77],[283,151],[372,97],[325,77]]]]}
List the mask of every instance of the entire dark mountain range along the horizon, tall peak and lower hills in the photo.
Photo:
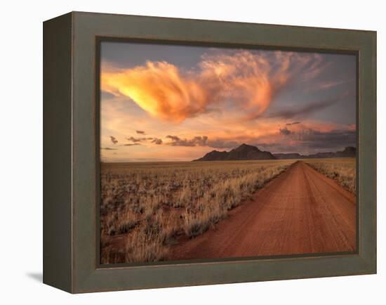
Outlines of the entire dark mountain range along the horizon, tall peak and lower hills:
{"type": "Polygon", "coordinates": [[[226,160],[281,160],[281,159],[311,159],[311,158],[334,158],[334,157],[355,157],[357,149],[347,147],[337,152],[317,152],[313,155],[300,155],[299,153],[277,153],[272,154],[269,151],[262,151],[256,146],[241,144],[229,152],[212,150],[204,157],[194,161],[226,161],[226,160]]]}

